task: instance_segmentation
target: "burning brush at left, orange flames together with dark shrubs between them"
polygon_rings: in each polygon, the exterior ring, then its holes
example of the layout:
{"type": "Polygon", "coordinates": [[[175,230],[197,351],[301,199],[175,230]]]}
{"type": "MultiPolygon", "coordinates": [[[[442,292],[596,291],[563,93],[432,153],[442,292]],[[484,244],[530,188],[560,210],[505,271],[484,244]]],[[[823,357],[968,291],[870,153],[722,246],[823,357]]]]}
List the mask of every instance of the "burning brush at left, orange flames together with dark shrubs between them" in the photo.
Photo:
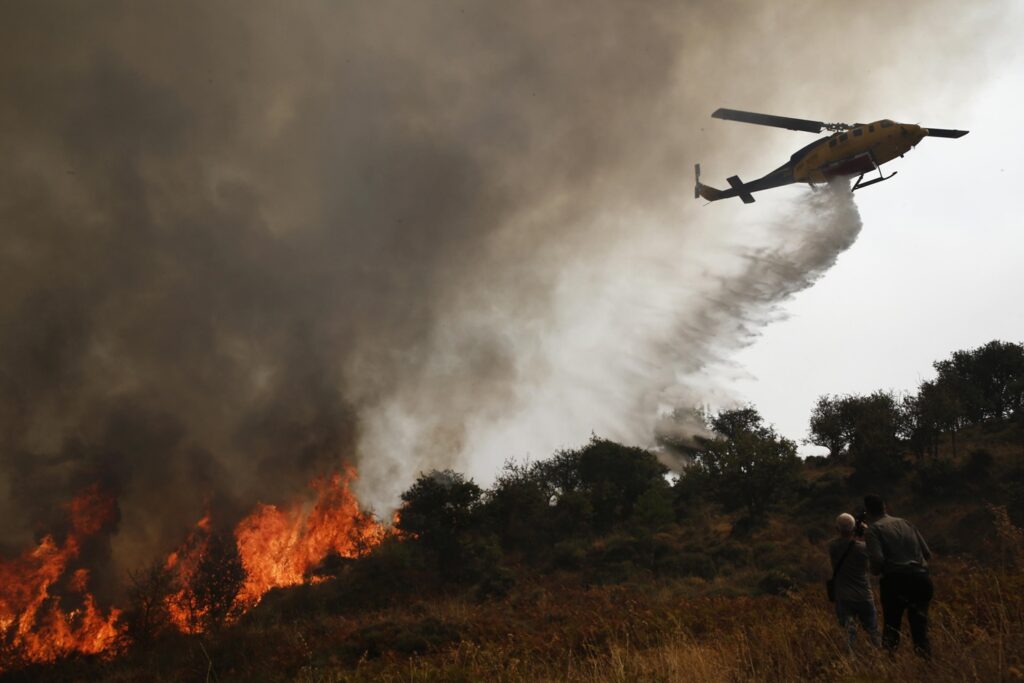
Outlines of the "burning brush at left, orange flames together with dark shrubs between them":
{"type": "Polygon", "coordinates": [[[127,610],[102,609],[89,592],[82,549],[117,519],[116,501],[98,486],[67,506],[62,540],[45,536],[20,557],[0,562],[0,671],[71,654],[144,644],[171,627],[199,633],[231,622],[271,588],[319,581],[330,553],[366,554],[384,527],[359,510],[353,470],[314,480],[313,500],[260,505],[233,528],[204,516],[165,561],[129,572],[127,610]]]}

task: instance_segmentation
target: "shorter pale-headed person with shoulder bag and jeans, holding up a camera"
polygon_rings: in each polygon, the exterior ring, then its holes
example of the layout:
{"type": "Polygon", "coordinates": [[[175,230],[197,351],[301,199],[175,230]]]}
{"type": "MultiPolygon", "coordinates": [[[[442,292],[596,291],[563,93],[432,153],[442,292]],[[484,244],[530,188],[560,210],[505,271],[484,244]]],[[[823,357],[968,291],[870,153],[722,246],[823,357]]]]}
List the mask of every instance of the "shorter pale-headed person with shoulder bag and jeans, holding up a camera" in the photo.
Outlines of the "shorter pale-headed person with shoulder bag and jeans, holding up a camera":
{"type": "Polygon", "coordinates": [[[864,523],[844,512],[836,518],[839,538],[828,544],[833,566],[833,595],[836,616],[846,630],[847,646],[853,651],[857,640],[857,623],[867,632],[871,642],[881,644],[874,597],[867,578],[867,547],[864,544],[864,523]]]}

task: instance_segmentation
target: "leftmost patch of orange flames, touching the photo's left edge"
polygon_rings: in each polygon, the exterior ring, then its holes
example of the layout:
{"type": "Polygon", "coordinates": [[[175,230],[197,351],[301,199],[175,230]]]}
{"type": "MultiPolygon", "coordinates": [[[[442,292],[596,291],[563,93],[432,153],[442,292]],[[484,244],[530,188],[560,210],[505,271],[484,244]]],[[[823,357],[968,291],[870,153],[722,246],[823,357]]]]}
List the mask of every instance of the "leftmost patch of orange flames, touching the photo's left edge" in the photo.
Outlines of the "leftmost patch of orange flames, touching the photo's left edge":
{"type": "Polygon", "coordinates": [[[104,615],[96,607],[87,590],[87,569],[73,570],[58,585],[82,541],[114,519],[115,502],[92,486],[67,507],[71,529],[62,544],[46,536],[22,557],[0,561],[0,637],[8,651],[0,668],[8,658],[52,661],[72,652],[96,654],[110,650],[121,635],[120,610],[104,615]],[[80,606],[65,611],[61,602],[72,596],[80,596],[80,606]]]}

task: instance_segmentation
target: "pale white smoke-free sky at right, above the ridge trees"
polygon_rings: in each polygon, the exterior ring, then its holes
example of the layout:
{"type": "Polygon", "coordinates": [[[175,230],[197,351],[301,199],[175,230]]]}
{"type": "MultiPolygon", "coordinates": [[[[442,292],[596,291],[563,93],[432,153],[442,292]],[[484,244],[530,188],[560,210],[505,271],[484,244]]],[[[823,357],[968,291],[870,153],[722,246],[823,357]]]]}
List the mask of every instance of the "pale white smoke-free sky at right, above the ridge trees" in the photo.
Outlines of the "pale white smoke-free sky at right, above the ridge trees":
{"type": "MultiPolygon", "coordinates": [[[[1007,3],[1002,10],[991,26],[994,43],[1024,35],[1024,6],[1007,3]]],[[[933,377],[932,362],[954,350],[1024,341],[1024,171],[1016,162],[1024,155],[1024,48],[1004,45],[1009,49],[997,59],[976,61],[977,53],[965,52],[972,68],[937,79],[935,100],[927,89],[908,99],[888,94],[844,119],[894,118],[971,132],[958,140],[926,138],[885,167],[899,171],[895,178],[858,190],[863,229],[856,244],[781,307],[784,319],[734,356],[737,395],[791,438],[806,437],[823,393],[913,391],[933,377]],[[959,97],[961,89],[970,96],[959,97]]],[[[934,47],[943,49],[940,35],[934,47]]],[[[868,67],[884,57],[864,55],[868,67]]],[[[779,145],[803,139],[769,134],[779,145]]],[[[767,202],[749,208],[773,210],[767,202]]]]}

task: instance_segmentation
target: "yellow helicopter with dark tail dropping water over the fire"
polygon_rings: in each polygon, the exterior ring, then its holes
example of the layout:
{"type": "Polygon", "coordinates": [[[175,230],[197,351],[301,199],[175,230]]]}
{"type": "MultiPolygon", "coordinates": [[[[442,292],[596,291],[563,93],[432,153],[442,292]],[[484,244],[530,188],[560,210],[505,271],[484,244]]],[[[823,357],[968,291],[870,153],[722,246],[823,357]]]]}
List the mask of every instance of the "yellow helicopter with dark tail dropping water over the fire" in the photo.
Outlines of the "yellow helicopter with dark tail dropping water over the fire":
{"type": "Polygon", "coordinates": [[[927,137],[963,137],[966,130],[949,130],[947,128],[922,128],[907,123],[896,123],[883,119],[873,123],[824,123],[823,121],[808,121],[807,119],[791,119],[790,117],[772,116],[770,114],[755,114],[737,110],[720,109],[712,114],[716,119],[755,123],[761,126],[774,126],[788,130],[803,130],[808,133],[820,133],[822,130],[831,135],[811,142],[794,154],[790,161],[779,166],[771,173],[743,182],[739,176],[726,178],[729,189],[716,189],[700,182],[700,164],[696,164],[696,186],[693,197],[703,198],[709,202],[738,197],[743,204],[754,202],[753,193],[770,189],[794,182],[806,182],[812,187],[816,183],[827,182],[836,177],[853,177],[859,175],[851,191],[888,180],[896,175],[893,171],[884,175],[879,168],[887,161],[902,157],[918,142],[927,137]],[[864,174],[878,171],[879,177],[864,181],[864,174]]]}

